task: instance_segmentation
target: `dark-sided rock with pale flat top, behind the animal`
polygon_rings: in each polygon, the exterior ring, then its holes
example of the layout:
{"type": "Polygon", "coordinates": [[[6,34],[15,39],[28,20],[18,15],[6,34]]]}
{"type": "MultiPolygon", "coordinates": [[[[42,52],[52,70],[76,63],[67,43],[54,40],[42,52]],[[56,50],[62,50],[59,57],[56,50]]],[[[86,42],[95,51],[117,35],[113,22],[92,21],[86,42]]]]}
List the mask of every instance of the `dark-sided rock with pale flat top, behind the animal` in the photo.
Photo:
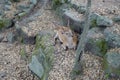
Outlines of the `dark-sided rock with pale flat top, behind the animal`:
{"type": "Polygon", "coordinates": [[[65,25],[68,24],[75,32],[81,33],[84,27],[84,16],[72,10],[67,10],[62,16],[65,25]]]}

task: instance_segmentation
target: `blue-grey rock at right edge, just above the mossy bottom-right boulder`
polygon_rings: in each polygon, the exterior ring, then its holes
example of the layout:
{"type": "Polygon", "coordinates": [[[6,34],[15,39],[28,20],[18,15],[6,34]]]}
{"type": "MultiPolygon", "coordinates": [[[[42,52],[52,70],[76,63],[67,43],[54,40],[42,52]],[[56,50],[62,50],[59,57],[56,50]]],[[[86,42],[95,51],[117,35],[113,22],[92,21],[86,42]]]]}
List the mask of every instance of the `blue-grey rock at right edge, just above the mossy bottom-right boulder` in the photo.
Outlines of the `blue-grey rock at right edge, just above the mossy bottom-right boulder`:
{"type": "Polygon", "coordinates": [[[108,27],[104,30],[105,40],[109,48],[120,47],[120,28],[118,26],[108,27]]]}

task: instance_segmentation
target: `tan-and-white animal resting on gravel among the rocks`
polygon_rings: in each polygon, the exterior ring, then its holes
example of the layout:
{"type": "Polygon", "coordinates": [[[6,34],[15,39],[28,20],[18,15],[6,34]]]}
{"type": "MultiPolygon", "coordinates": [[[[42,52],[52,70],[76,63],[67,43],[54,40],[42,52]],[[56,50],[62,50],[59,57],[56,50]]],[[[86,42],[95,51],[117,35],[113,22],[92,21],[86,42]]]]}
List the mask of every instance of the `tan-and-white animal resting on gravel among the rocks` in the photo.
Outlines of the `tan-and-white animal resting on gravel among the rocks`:
{"type": "Polygon", "coordinates": [[[54,42],[56,44],[56,39],[62,42],[62,47],[66,50],[76,49],[78,36],[69,27],[58,26],[56,29],[56,35],[54,36],[54,42]]]}

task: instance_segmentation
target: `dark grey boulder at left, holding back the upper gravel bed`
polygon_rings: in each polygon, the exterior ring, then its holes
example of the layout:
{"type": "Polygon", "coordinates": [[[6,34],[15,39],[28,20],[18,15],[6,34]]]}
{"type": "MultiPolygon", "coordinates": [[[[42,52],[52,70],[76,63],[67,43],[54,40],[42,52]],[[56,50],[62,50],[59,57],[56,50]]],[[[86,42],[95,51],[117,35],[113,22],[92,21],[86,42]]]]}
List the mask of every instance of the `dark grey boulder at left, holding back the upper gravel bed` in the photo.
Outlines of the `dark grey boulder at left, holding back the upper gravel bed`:
{"type": "Polygon", "coordinates": [[[20,23],[15,24],[15,34],[17,41],[24,44],[35,44],[36,35],[29,34],[29,28],[20,25],[20,23]]]}

